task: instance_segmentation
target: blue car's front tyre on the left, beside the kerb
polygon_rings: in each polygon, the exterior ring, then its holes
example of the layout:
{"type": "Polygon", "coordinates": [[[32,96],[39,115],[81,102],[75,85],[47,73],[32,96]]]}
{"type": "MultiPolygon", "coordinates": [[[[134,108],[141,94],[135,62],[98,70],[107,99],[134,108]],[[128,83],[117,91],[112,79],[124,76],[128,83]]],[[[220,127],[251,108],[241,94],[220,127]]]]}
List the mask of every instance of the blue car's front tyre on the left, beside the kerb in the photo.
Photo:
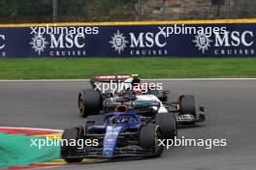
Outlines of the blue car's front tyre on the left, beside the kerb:
{"type": "Polygon", "coordinates": [[[63,141],[67,141],[66,145],[62,145],[61,146],[61,156],[63,156],[63,158],[69,162],[69,163],[73,163],[73,162],[80,162],[82,160],[82,158],[68,158],[67,153],[73,153],[78,150],[78,146],[70,146],[69,144],[73,141],[74,139],[76,141],[78,141],[80,138],[80,134],[79,134],[79,128],[68,128],[65,129],[62,133],[62,140],[63,141]]]}

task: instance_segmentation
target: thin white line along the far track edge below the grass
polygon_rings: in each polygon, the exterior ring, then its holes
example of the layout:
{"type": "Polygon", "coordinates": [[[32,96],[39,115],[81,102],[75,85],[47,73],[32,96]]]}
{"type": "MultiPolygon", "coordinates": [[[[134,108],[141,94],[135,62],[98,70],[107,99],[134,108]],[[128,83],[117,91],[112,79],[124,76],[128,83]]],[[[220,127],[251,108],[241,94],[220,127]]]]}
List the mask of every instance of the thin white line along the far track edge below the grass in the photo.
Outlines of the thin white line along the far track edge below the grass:
{"type": "MultiPolygon", "coordinates": [[[[27,79],[27,80],[0,80],[0,82],[77,82],[90,79],[27,79]]],[[[215,80],[256,80],[256,78],[152,78],[143,79],[151,81],[215,81],[215,80]]]]}

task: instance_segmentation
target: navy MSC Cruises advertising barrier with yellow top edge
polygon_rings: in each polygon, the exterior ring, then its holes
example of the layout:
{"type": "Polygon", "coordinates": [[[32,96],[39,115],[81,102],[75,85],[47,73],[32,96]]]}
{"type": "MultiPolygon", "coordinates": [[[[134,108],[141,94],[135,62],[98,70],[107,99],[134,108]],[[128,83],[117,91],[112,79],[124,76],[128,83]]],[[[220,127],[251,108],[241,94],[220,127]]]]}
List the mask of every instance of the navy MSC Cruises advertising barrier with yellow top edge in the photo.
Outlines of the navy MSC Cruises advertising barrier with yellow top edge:
{"type": "Polygon", "coordinates": [[[256,19],[0,25],[0,58],[254,57],[256,19]]]}

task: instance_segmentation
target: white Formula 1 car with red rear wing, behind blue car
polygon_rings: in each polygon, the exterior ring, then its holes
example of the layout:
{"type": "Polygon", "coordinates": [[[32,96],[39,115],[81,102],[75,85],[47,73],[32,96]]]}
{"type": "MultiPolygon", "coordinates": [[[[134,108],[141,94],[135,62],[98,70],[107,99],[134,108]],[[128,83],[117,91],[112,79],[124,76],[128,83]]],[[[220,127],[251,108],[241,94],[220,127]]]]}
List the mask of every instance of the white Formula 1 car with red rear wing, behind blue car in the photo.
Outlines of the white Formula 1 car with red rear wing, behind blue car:
{"type": "MultiPolygon", "coordinates": [[[[92,89],[81,90],[78,104],[80,115],[87,117],[90,115],[107,114],[114,111],[114,108],[121,104],[145,104],[147,101],[159,102],[159,109],[151,106],[143,109],[143,115],[150,115],[151,110],[160,113],[176,113],[178,124],[195,124],[205,121],[205,108],[196,107],[194,96],[181,95],[176,102],[171,102],[169,98],[170,91],[160,91],[150,89],[148,86],[141,86],[139,74],[131,75],[96,75],[91,78],[92,89]],[[98,88],[100,83],[116,83],[117,88],[109,91],[101,91],[98,88]],[[135,88],[136,87],[136,88],[135,88]],[[139,87],[139,88],[138,88],[139,87]]],[[[110,87],[110,86],[109,86],[110,87]]]]}

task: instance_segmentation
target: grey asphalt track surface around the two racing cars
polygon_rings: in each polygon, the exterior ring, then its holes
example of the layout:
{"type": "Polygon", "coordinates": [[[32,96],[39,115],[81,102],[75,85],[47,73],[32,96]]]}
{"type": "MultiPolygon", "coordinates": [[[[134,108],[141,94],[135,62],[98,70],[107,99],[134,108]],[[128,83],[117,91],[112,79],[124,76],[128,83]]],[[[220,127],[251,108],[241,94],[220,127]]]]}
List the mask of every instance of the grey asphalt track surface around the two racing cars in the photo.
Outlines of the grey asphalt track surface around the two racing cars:
{"type": "MultiPolygon", "coordinates": [[[[163,81],[178,94],[193,94],[207,108],[208,121],[178,129],[186,138],[227,139],[227,147],[173,147],[163,156],[117,160],[54,169],[86,170],[255,170],[256,80],[163,81]]],[[[0,126],[72,128],[83,123],[78,115],[78,91],[86,81],[0,82],[0,126]]]]}

